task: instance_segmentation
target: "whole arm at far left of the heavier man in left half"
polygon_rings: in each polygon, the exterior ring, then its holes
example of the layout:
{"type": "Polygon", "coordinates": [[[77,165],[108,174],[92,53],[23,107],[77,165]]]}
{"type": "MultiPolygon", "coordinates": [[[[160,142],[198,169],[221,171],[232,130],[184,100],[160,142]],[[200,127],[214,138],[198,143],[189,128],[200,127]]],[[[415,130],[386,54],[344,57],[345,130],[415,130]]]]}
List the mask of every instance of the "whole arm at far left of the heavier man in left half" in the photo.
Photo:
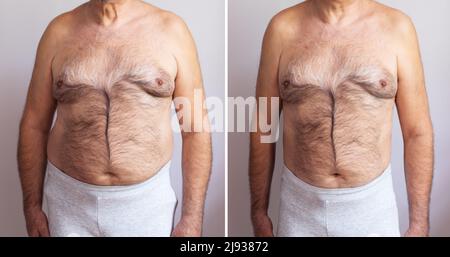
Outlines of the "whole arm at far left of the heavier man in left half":
{"type": "Polygon", "coordinates": [[[50,24],[39,43],[20,122],[17,159],[30,236],[49,234],[47,220],[42,212],[42,191],[47,164],[47,137],[56,106],[51,92],[51,62],[56,48],[54,30],[50,24]]]}

